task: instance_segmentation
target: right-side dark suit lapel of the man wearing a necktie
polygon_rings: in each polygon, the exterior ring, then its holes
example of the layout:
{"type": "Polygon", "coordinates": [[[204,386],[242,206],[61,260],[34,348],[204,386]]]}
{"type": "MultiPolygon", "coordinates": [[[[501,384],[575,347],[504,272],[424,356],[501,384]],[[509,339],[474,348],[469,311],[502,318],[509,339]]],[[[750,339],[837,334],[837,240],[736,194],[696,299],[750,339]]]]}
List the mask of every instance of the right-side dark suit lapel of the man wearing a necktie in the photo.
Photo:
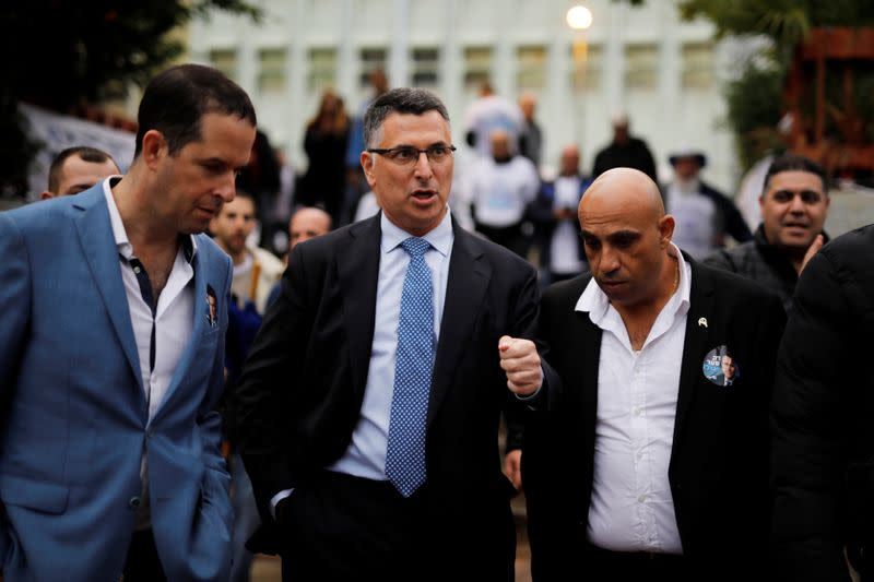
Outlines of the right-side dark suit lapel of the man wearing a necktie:
{"type": "MultiPolygon", "coordinates": [[[[461,360],[461,351],[476,321],[476,314],[492,278],[492,266],[485,261],[482,249],[473,235],[464,231],[452,219],[454,240],[449,260],[449,276],[446,283],[446,300],[440,319],[440,338],[434,359],[430,400],[428,401],[428,425],[456,373],[461,360]]],[[[497,349],[497,346],[495,346],[497,349]]]]}

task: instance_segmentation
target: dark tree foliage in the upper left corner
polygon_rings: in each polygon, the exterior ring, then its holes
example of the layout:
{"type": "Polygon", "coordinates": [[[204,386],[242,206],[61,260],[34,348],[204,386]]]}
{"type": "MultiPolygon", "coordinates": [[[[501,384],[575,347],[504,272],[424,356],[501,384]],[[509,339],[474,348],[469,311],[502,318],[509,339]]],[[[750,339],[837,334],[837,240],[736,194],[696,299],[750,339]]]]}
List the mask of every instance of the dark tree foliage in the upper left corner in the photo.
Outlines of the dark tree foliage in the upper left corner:
{"type": "Polygon", "coordinates": [[[211,9],[260,17],[245,0],[3,0],[0,190],[19,190],[35,149],[19,100],[67,111],[123,96],[129,83],[143,86],[181,54],[168,33],[211,9]]]}

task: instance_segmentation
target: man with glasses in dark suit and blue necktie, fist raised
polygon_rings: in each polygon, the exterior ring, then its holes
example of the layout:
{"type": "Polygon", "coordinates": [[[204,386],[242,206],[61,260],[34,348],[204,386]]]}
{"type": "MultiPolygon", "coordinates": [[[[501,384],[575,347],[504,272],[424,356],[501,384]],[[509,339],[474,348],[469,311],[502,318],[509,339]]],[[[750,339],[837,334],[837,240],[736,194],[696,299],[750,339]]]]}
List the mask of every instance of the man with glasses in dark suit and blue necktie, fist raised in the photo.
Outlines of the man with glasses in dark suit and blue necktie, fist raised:
{"type": "Polygon", "coordinates": [[[525,394],[543,371],[533,343],[498,343],[530,336],[536,272],[450,216],[450,140],[427,91],[370,105],[382,210],[293,249],[244,369],[240,449],[285,579],[513,579],[498,420],[508,377],[525,394]]]}

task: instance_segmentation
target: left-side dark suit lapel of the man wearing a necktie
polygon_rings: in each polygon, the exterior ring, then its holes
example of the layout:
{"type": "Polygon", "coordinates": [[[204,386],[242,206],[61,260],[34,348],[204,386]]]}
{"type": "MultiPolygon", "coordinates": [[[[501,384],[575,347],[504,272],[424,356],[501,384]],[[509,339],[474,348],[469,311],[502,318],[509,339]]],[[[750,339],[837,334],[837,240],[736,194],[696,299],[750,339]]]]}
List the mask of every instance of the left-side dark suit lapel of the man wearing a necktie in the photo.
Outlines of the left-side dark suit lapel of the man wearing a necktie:
{"type": "Polygon", "coordinates": [[[343,321],[352,369],[353,390],[364,394],[376,321],[376,288],[379,280],[381,213],[349,228],[345,248],[336,249],[343,321]]]}

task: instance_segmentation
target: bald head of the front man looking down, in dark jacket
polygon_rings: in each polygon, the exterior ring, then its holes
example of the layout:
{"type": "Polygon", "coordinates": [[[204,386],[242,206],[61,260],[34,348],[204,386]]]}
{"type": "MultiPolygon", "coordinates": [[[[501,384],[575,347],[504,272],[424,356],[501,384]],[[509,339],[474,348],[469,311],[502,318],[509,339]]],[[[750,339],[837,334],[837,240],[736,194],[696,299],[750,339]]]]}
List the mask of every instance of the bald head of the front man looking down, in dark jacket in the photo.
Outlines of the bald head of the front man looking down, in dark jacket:
{"type": "Polygon", "coordinates": [[[676,290],[678,271],[669,259],[674,218],[656,182],[636,169],[605,171],[583,194],[579,218],[589,266],[611,304],[658,313],[676,290]]]}

